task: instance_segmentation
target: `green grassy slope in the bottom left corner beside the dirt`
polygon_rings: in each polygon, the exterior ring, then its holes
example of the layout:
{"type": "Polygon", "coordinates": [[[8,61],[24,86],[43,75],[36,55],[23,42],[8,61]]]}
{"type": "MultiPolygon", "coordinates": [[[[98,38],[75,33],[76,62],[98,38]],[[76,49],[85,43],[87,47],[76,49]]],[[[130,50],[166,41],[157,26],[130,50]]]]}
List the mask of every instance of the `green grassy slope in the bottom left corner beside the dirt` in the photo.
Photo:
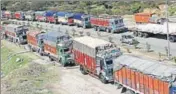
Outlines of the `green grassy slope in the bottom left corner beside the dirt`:
{"type": "MultiPolygon", "coordinates": [[[[2,41],[2,61],[7,57],[24,49],[7,41],[2,41]],[[9,46],[10,45],[10,46],[9,46]]],[[[31,62],[39,57],[33,53],[25,53],[12,57],[6,63],[2,63],[3,94],[52,94],[47,88],[50,84],[58,80],[58,68],[52,65],[41,65],[31,62]],[[23,59],[16,62],[16,58],[23,59]],[[29,63],[30,62],[30,63],[29,63]]]]}

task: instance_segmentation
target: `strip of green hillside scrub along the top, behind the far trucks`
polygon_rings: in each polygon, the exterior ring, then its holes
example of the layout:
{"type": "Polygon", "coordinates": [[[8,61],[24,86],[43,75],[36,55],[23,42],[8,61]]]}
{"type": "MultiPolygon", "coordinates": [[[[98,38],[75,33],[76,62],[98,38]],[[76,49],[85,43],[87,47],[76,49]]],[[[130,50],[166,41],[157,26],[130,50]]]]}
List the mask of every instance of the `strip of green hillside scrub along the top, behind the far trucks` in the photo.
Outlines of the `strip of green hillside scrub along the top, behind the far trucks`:
{"type": "MultiPolygon", "coordinates": [[[[98,14],[114,14],[114,15],[124,15],[133,14],[138,12],[143,12],[144,9],[155,9],[158,11],[163,11],[161,6],[165,2],[118,2],[118,1],[4,1],[2,6],[3,9],[11,11],[27,11],[27,10],[59,10],[59,11],[70,11],[70,12],[84,12],[93,15],[98,14]]],[[[176,15],[176,4],[169,3],[169,14],[171,16],[176,15]]]]}

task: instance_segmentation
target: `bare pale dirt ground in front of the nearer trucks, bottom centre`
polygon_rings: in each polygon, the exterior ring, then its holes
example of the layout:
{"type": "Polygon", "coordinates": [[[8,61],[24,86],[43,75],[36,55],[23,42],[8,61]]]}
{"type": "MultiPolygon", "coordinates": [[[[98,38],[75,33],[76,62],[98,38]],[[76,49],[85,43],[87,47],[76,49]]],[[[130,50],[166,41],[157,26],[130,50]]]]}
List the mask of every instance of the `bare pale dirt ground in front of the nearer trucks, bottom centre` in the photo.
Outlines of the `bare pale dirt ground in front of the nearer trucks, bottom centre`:
{"type": "Polygon", "coordinates": [[[116,89],[112,84],[103,84],[98,79],[90,75],[83,75],[79,67],[63,68],[61,80],[58,83],[49,85],[54,94],[121,94],[121,90],[116,89]]]}

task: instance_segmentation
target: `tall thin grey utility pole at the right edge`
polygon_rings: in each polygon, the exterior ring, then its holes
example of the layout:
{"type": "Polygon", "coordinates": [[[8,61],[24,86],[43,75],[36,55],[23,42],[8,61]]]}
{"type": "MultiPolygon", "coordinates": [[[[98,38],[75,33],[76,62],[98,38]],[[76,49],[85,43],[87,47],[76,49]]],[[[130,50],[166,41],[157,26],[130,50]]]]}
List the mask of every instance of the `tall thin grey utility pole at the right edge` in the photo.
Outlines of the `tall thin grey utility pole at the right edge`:
{"type": "Polygon", "coordinates": [[[166,0],[166,30],[167,30],[167,46],[168,46],[168,59],[170,60],[170,41],[169,41],[169,23],[168,23],[168,0],[166,0]]]}

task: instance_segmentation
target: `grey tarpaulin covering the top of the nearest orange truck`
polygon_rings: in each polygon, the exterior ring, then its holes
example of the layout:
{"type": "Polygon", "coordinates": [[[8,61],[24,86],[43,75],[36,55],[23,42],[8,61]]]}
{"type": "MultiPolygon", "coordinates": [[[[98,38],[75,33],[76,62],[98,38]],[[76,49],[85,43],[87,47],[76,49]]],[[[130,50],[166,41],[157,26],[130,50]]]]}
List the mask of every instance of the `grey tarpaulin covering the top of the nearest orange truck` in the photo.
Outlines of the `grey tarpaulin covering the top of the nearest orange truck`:
{"type": "Polygon", "coordinates": [[[128,67],[167,82],[172,81],[172,74],[176,73],[176,66],[131,55],[122,55],[114,60],[114,72],[123,67],[128,67]]]}

